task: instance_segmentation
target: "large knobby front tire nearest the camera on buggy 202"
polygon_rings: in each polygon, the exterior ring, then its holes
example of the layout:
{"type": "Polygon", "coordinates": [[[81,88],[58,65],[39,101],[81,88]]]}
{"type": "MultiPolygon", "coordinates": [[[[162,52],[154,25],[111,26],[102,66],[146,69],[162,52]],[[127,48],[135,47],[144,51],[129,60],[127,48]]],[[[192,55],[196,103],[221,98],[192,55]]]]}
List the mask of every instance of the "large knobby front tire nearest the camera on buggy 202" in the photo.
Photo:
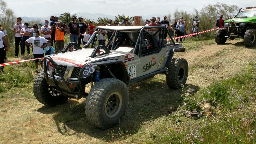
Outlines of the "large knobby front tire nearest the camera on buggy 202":
{"type": "Polygon", "coordinates": [[[96,127],[107,129],[124,116],[128,102],[129,91],[124,82],[114,78],[101,79],[87,96],[87,120],[96,127]]]}

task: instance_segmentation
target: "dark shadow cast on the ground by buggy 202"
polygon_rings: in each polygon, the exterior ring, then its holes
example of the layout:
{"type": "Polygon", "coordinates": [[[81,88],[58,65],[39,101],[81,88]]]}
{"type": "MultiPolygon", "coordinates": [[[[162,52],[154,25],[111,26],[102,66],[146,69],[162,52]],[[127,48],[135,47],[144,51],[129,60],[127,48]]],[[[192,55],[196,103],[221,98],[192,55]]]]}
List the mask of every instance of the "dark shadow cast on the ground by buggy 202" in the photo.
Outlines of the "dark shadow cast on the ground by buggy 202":
{"type": "MultiPolygon", "coordinates": [[[[190,88],[199,90],[199,87],[194,85],[190,85],[190,88]]],[[[78,103],[69,100],[67,103],[56,107],[43,106],[38,109],[38,112],[56,113],[53,120],[61,134],[65,133],[68,127],[76,133],[84,133],[97,139],[111,141],[110,131],[118,132],[120,128],[125,134],[132,135],[138,132],[143,124],[171,114],[182,104],[182,90],[171,90],[165,81],[159,79],[154,78],[138,83],[129,86],[128,89],[130,93],[128,109],[120,124],[113,129],[102,130],[92,126],[85,116],[85,101],[78,103]],[[59,122],[65,124],[63,128],[60,128],[59,122]]]]}

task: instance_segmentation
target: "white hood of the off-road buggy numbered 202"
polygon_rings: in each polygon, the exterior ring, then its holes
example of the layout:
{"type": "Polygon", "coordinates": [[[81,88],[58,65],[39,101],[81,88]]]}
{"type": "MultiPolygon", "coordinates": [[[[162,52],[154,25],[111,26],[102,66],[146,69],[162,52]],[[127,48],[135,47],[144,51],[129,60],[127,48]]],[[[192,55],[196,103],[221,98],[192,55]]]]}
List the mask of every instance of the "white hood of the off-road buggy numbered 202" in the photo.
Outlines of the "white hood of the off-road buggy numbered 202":
{"type": "MultiPolygon", "coordinates": [[[[47,55],[45,57],[48,57],[48,56],[51,57],[54,60],[54,62],[57,63],[58,65],[83,67],[83,65],[89,62],[91,63],[93,61],[98,61],[101,59],[120,57],[126,54],[126,53],[111,50],[111,53],[109,54],[104,54],[104,55],[91,58],[89,56],[91,56],[93,50],[94,48],[86,48],[86,49],[74,50],[66,53],[47,55]]],[[[101,51],[105,52],[102,49],[101,51]]]]}

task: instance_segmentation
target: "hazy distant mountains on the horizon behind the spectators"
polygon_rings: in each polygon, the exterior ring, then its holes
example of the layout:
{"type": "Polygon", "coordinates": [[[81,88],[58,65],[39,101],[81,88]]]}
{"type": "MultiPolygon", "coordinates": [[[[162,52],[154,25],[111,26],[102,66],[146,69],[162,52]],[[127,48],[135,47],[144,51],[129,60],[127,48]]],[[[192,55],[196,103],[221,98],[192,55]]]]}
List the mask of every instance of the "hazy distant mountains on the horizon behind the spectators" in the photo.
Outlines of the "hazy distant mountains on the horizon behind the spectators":
{"type": "MultiPolygon", "coordinates": [[[[73,14],[71,14],[71,15],[73,15],[73,14]]],[[[83,12],[83,13],[77,12],[76,14],[77,14],[78,17],[91,19],[95,22],[98,20],[99,17],[106,17],[106,18],[112,19],[112,20],[115,19],[115,16],[106,15],[106,14],[102,14],[102,13],[92,14],[92,13],[87,13],[87,12],[83,12]]],[[[60,14],[54,14],[54,16],[59,17],[60,14]]],[[[136,16],[139,16],[139,15],[136,15],[136,16]]],[[[163,14],[152,14],[152,15],[142,16],[142,19],[146,20],[146,19],[151,19],[152,17],[160,17],[160,19],[163,20],[163,16],[164,16],[163,14]]],[[[129,16],[129,17],[131,17],[131,16],[129,16]]],[[[39,22],[39,23],[42,24],[45,20],[50,21],[50,16],[48,16],[48,17],[22,17],[23,22],[36,21],[36,22],[39,22]]]]}

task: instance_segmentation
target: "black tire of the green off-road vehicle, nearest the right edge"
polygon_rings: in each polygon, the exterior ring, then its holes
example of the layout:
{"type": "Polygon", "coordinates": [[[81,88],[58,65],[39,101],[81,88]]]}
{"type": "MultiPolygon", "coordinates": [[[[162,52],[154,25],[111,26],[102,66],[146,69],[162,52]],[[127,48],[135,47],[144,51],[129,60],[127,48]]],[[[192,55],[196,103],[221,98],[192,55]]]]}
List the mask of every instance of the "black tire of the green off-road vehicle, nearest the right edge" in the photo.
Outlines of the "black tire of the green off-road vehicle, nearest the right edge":
{"type": "Polygon", "coordinates": [[[248,29],[244,34],[244,45],[247,47],[253,47],[256,43],[256,30],[248,29]]]}

